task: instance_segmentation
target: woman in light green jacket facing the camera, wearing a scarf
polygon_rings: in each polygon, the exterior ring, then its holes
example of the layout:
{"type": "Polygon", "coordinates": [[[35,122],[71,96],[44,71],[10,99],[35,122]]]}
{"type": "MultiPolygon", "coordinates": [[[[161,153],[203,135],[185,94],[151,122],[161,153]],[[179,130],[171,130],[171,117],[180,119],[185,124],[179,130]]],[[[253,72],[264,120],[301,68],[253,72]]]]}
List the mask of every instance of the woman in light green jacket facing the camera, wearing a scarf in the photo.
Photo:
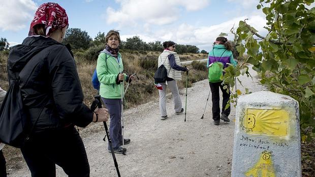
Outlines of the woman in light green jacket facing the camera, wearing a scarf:
{"type": "MultiPolygon", "coordinates": [[[[119,53],[119,32],[110,30],[106,34],[106,48],[100,53],[97,63],[97,74],[100,81],[100,94],[110,114],[109,135],[115,153],[123,153],[121,134],[121,94],[123,94],[123,81],[128,82],[134,78],[123,72],[121,54],[119,53]]],[[[123,96],[123,95],[122,95],[123,96]]],[[[123,144],[130,143],[130,139],[123,139],[123,144]]],[[[111,152],[108,145],[108,151],[111,152]]]]}

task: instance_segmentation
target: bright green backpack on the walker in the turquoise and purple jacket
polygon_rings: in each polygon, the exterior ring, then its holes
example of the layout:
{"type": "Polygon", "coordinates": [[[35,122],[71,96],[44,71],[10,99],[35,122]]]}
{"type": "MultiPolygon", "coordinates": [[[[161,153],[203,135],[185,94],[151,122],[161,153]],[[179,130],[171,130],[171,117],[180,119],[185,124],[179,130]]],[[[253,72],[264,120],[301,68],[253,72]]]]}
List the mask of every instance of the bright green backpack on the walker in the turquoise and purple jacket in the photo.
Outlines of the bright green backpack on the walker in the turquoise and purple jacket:
{"type": "MultiPolygon", "coordinates": [[[[224,52],[222,53],[222,55],[224,54],[224,52]]],[[[220,56],[218,61],[215,61],[209,65],[209,74],[208,74],[209,82],[216,83],[216,82],[222,81],[220,79],[220,77],[223,75],[223,63],[220,62],[222,55],[220,56]]],[[[213,57],[215,58],[214,52],[213,52],[213,57]]]]}

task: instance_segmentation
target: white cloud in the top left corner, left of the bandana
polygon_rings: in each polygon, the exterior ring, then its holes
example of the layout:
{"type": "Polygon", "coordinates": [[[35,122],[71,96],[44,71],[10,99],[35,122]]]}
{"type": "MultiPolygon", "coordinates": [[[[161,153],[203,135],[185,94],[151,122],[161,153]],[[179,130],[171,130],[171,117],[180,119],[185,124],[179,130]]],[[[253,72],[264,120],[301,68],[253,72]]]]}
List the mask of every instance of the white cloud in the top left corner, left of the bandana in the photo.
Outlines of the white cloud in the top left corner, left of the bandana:
{"type": "Polygon", "coordinates": [[[0,29],[18,31],[33,19],[38,6],[31,0],[2,1],[0,6],[0,29]]]}

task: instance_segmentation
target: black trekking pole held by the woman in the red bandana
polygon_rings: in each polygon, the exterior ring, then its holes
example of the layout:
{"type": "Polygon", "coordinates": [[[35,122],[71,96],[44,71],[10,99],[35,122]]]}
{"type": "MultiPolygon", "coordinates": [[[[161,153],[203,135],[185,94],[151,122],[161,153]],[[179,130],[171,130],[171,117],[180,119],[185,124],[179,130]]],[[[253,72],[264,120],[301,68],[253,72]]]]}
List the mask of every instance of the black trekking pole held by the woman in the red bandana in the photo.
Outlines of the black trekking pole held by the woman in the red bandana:
{"type": "MultiPolygon", "coordinates": [[[[91,105],[91,110],[92,111],[94,111],[97,107],[98,108],[102,108],[101,95],[96,95],[96,96],[94,96],[94,98],[95,98],[95,100],[92,102],[92,105],[91,105]]],[[[118,177],[120,177],[120,173],[119,173],[119,169],[118,169],[118,163],[117,163],[117,160],[116,160],[116,157],[115,157],[114,148],[113,148],[113,145],[112,145],[112,140],[110,139],[110,136],[109,136],[108,127],[107,127],[107,124],[106,124],[105,121],[103,122],[103,124],[104,124],[104,127],[105,127],[105,131],[106,131],[109,147],[110,147],[110,150],[111,150],[111,153],[112,153],[112,156],[113,156],[113,160],[114,160],[114,164],[115,164],[115,167],[116,167],[116,171],[117,171],[118,177]]],[[[104,137],[103,140],[105,141],[105,137],[104,137]]]]}

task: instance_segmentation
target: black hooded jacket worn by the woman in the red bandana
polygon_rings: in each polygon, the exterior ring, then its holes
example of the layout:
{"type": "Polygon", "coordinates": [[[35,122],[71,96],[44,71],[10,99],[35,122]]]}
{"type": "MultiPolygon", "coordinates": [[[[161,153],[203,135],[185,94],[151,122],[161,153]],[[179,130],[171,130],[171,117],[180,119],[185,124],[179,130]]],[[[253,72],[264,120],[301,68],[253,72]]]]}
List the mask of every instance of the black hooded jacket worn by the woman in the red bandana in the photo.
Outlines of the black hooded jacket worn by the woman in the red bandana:
{"type": "Polygon", "coordinates": [[[51,38],[27,37],[8,59],[9,83],[19,73],[23,104],[35,131],[87,126],[93,112],[83,103],[74,58],[66,46],[51,38]]]}

